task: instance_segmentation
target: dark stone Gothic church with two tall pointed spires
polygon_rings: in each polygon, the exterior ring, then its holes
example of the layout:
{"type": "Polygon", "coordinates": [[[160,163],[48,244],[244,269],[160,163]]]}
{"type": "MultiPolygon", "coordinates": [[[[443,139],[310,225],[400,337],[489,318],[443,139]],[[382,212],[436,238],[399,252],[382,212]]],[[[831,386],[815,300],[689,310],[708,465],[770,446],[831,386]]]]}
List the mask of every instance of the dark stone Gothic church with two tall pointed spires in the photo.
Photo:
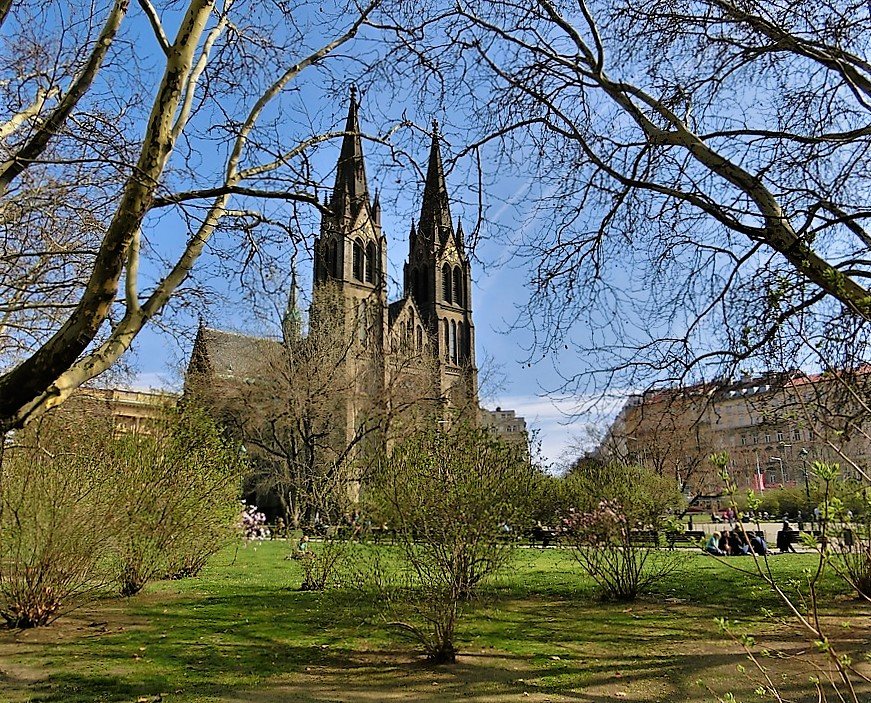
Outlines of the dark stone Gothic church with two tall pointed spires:
{"type": "Polygon", "coordinates": [[[325,205],[306,332],[291,272],[283,338],[201,324],[185,382],[185,392],[200,395],[249,447],[252,466],[263,467],[268,481],[258,496],[277,494],[294,524],[306,519],[294,507],[305,500],[293,495],[299,484],[333,481],[332,493],[354,502],[371,458],[415,429],[463,418],[502,434],[478,407],[471,266],[451,217],[438,125],[420,217],[409,223],[399,300],[387,297],[387,238],[367,183],[353,89],[325,205]],[[285,418],[283,429],[276,417],[285,418]]]}

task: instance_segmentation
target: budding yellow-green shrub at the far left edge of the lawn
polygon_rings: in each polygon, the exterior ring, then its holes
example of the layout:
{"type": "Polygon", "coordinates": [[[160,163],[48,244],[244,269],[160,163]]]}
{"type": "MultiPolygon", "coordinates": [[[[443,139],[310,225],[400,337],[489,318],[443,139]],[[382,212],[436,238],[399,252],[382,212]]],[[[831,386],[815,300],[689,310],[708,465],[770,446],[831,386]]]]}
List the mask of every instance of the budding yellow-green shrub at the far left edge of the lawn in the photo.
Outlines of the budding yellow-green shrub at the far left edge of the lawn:
{"type": "Polygon", "coordinates": [[[0,617],[47,625],[104,592],[113,477],[95,456],[111,426],[56,414],[16,433],[0,465],[0,617]]]}

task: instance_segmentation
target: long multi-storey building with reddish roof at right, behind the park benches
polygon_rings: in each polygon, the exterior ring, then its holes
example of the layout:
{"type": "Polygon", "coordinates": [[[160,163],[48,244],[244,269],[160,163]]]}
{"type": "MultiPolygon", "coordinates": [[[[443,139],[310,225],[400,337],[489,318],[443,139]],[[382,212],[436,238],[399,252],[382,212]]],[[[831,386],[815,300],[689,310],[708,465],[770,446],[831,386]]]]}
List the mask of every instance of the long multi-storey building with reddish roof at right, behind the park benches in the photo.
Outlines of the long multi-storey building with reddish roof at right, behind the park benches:
{"type": "Polygon", "coordinates": [[[673,475],[702,502],[723,491],[708,459],[719,452],[742,490],[809,491],[814,461],[839,463],[847,478],[871,465],[869,381],[865,370],[793,371],[649,391],[627,400],[598,453],[673,475]]]}

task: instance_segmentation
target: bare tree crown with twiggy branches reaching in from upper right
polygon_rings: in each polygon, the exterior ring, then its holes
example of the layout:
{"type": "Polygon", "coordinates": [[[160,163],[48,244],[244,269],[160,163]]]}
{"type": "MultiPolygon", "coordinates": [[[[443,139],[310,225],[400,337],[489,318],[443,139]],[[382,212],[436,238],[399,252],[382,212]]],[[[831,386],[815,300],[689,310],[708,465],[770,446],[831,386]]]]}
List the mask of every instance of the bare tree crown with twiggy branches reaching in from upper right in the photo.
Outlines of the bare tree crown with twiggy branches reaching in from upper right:
{"type": "Polygon", "coordinates": [[[795,366],[808,338],[828,360],[861,356],[867,8],[441,9],[403,18],[403,36],[420,79],[467,107],[466,153],[529,179],[526,322],[543,353],[573,342],[607,382],[795,366]]]}

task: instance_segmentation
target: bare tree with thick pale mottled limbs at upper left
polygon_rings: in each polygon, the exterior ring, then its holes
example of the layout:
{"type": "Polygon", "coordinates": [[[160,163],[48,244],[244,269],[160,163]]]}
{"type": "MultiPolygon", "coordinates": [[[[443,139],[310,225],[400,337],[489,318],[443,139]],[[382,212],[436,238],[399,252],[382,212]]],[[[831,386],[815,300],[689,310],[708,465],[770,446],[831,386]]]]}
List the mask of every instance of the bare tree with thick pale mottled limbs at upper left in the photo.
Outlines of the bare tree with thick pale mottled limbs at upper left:
{"type": "Polygon", "coordinates": [[[299,236],[337,133],[293,91],[377,4],[0,6],[0,430],[109,368],[207,247],[299,236]]]}

